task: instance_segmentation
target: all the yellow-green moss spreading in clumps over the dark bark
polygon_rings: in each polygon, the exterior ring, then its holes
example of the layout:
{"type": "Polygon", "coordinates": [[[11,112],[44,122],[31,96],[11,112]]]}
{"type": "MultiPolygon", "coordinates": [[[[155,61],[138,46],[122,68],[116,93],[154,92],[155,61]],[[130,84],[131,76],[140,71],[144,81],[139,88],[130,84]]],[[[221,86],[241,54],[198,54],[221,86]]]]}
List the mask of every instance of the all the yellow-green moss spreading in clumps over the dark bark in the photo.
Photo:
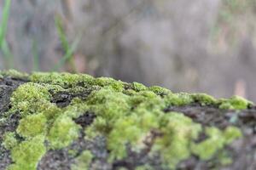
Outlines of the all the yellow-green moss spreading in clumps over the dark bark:
{"type": "MultiPolygon", "coordinates": [[[[193,122],[183,113],[165,112],[167,107],[199,103],[221,109],[247,109],[252,105],[240,97],[214,99],[207,94],[174,94],[166,88],[147,88],[138,82],[126,83],[82,74],[32,73],[28,80],[31,82],[20,85],[10,99],[9,115],[20,114],[21,119],[17,129],[5,133],[3,138],[3,146],[11,151],[14,161],[9,169],[36,169],[46,151],[73,144],[82,131],[74,120],[86,111],[93,112],[96,118],[83,129],[84,139],[94,141],[98,135],[106,137],[109,162],[128,156],[127,146],[136,153],[150,147],[149,157],[159,153],[164,164],[174,169],[179,161],[191,154],[208,160],[224,153],[218,150],[224,150],[225,145],[241,137],[241,131],[236,127],[224,130],[202,128],[200,123],[193,122]],[[83,98],[78,95],[69,105],[59,108],[51,101],[59,92],[86,95],[83,98]],[[207,139],[196,143],[204,131],[207,139]],[[148,139],[151,139],[149,145],[148,139]]],[[[90,150],[82,153],[74,150],[73,156],[76,155],[79,156],[73,169],[88,168],[93,159],[90,150]]],[[[229,159],[222,160],[230,162],[229,159]]]]}

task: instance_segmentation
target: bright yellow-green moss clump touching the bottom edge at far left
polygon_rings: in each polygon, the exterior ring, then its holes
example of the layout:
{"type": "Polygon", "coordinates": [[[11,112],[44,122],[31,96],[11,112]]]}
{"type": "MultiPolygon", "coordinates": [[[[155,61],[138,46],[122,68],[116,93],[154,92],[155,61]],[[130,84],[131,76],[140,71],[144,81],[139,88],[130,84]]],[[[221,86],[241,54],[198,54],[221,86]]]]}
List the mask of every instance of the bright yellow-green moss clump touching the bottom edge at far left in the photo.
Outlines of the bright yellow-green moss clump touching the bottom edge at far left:
{"type": "Polygon", "coordinates": [[[39,135],[21,142],[11,150],[14,164],[9,166],[9,170],[34,170],[45,152],[44,136],[39,135]]]}

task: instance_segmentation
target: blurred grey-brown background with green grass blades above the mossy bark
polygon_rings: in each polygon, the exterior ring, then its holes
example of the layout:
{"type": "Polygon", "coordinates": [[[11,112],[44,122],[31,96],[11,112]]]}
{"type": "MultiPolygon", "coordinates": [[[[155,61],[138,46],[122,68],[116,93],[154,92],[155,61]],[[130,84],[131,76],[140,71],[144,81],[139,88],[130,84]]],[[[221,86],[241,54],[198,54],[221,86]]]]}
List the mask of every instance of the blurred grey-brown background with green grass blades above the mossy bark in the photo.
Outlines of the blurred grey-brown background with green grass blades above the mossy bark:
{"type": "Polygon", "coordinates": [[[255,0],[1,0],[0,10],[1,70],[256,101],[255,0]]]}

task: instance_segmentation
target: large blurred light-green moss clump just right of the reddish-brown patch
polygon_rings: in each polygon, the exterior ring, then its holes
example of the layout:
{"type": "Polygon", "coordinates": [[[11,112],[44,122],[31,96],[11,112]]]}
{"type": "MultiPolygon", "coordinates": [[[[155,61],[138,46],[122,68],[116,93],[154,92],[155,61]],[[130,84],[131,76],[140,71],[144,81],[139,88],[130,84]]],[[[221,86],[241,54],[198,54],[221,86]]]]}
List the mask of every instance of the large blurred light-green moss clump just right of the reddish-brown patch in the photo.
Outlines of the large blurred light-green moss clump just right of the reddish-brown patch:
{"type": "Polygon", "coordinates": [[[160,150],[166,163],[175,168],[177,163],[190,156],[189,145],[201,132],[201,125],[181,113],[170,112],[161,119],[160,132],[154,150],[160,150]]]}

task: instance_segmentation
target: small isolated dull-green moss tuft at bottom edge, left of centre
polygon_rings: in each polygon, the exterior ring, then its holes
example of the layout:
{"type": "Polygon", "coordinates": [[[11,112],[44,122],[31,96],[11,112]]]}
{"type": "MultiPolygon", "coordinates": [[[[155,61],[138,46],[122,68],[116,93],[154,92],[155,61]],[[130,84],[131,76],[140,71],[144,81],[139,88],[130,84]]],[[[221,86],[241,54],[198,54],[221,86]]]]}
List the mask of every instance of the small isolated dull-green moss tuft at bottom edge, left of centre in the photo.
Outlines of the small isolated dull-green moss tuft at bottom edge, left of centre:
{"type": "Polygon", "coordinates": [[[90,167],[90,161],[93,155],[89,150],[84,150],[79,157],[76,158],[75,164],[71,166],[72,170],[87,170],[90,167]]]}

